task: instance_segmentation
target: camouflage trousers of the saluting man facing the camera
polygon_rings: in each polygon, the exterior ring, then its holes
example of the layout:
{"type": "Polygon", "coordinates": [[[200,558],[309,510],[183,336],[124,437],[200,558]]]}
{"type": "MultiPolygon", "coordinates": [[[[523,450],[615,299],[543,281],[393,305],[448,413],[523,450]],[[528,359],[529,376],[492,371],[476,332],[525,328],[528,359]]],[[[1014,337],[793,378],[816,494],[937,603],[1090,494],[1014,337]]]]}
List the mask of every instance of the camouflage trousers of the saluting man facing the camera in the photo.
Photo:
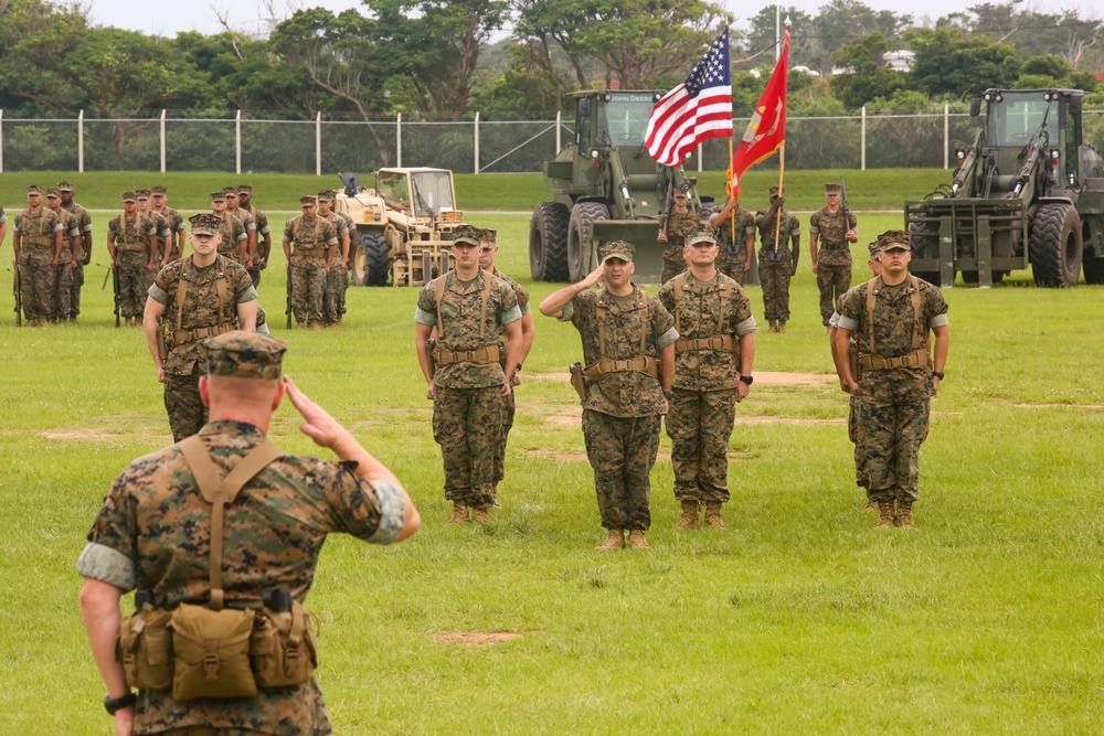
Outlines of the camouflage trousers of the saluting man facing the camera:
{"type": "Polygon", "coordinates": [[[583,439],[605,529],[651,526],[648,476],[659,451],[662,415],[614,417],[583,409],[583,439]]]}

